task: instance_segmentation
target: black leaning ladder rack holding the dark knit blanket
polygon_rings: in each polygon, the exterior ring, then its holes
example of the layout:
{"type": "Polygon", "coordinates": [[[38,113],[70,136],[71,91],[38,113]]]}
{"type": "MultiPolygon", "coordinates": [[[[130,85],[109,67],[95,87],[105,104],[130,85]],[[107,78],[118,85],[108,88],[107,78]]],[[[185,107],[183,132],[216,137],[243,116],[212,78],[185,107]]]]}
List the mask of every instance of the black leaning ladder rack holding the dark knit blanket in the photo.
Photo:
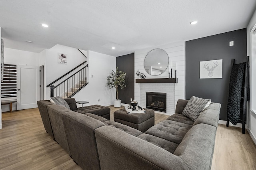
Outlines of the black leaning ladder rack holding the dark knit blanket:
{"type": "MultiPolygon", "coordinates": [[[[233,69],[234,65],[235,65],[235,59],[233,59],[232,69],[233,69]]],[[[234,81],[234,80],[230,79],[230,83],[231,83],[231,81],[234,81]]],[[[234,82],[232,82],[232,83],[234,83],[234,82]]],[[[237,115],[237,116],[239,116],[238,123],[242,123],[242,133],[243,134],[245,133],[245,125],[246,125],[246,102],[249,99],[248,84],[249,84],[249,56],[247,56],[247,58],[246,58],[246,65],[245,65],[245,69],[244,69],[244,77],[243,77],[243,82],[242,82],[241,97],[240,97],[240,115],[237,115]]],[[[240,90],[240,89],[238,89],[238,90],[240,90]]],[[[229,91],[229,93],[236,93],[236,92],[238,93],[238,91],[229,91]]],[[[231,95],[229,94],[229,103],[228,103],[227,110],[230,109],[229,107],[232,107],[232,106],[230,106],[230,105],[232,105],[232,103],[230,103],[230,96],[231,95]]],[[[230,117],[230,114],[228,113],[227,114],[227,124],[226,124],[227,127],[228,127],[230,121],[231,121],[231,123],[233,123],[232,119],[230,117]]],[[[233,123],[233,124],[236,125],[236,123],[233,123]]]]}

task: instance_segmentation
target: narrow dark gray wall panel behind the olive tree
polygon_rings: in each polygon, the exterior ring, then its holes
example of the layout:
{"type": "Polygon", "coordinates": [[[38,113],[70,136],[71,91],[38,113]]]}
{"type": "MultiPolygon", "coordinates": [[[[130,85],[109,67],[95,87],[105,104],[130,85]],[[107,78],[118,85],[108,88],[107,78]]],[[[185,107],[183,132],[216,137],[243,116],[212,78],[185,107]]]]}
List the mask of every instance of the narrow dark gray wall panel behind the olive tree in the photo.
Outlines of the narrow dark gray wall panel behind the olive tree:
{"type": "Polygon", "coordinates": [[[134,99],[134,53],[116,57],[116,66],[126,73],[126,87],[118,88],[118,98],[121,103],[130,104],[130,98],[134,99]]]}

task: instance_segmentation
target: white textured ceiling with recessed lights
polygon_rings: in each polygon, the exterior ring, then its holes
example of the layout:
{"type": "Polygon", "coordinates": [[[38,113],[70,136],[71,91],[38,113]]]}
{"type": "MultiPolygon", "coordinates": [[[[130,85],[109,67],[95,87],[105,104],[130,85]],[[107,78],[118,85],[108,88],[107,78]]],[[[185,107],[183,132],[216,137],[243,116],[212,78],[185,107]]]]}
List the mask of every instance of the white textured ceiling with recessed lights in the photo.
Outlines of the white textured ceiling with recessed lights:
{"type": "Polygon", "coordinates": [[[61,44],[120,56],[246,28],[255,7],[256,0],[1,0],[0,27],[9,48],[61,44]]]}

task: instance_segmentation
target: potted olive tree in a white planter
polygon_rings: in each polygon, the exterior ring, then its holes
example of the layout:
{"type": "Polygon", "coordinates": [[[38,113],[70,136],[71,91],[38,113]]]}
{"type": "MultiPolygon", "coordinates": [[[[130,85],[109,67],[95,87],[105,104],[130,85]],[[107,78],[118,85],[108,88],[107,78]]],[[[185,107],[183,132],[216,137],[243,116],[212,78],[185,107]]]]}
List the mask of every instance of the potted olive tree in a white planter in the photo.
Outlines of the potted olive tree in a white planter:
{"type": "Polygon", "coordinates": [[[121,100],[118,99],[118,87],[121,87],[121,89],[124,89],[126,87],[124,85],[126,73],[123,71],[119,71],[118,67],[116,67],[116,72],[112,70],[110,75],[107,77],[107,83],[106,85],[111,88],[116,88],[116,100],[114,101],[114,107],[121,107],[121,100]]]}

